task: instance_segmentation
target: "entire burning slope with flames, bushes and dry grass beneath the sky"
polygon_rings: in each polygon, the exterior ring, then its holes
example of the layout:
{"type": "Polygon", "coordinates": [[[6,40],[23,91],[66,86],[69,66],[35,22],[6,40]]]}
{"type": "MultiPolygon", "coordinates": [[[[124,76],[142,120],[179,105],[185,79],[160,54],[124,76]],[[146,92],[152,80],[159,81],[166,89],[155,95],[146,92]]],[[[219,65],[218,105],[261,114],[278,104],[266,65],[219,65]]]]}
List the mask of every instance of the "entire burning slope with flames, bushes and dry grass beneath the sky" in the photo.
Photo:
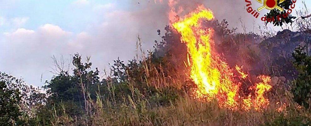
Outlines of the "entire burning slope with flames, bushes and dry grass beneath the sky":
{"type": "Polygon", "coordinates": [[[171,22],[157,31],[154,50],[145,53],[138,37],[136,57],[114,60],[105,78],[78,53],[72,71],[53,58],[46,93],[0,72],[8,101],[0,102],[0,125],[311,124],[311,57],[299,46],[309,40],[308,22],[270,37],[236,33],[204,6],[181,18],[176,4],[169,0],[171,22]]]}

